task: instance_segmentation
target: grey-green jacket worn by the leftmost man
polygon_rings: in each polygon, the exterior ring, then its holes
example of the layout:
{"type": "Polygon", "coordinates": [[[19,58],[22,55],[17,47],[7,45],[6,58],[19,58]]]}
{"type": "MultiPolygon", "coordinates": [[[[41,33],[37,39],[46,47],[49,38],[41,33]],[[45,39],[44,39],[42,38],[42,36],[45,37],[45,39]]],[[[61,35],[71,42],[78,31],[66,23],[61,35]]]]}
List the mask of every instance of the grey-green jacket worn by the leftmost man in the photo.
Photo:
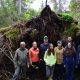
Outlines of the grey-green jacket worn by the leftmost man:
{"type": "Polygon", "coordinates": [[[19,66],[25,66],[28,64],[28,49],[21,50],[18,48],[14,56],[14,64],[19,66]]]}

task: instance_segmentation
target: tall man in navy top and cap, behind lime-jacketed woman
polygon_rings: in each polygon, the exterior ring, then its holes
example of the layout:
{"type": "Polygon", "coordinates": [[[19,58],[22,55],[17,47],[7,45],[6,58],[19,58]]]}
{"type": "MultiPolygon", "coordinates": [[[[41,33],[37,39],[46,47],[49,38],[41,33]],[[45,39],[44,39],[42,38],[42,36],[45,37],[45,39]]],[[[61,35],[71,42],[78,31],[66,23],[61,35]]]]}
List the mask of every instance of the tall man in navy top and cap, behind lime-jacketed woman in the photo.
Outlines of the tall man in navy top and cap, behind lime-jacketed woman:
{"type": "Polygon", "coordinates": [[[45,61],[44,61],[44,54],[45,51],[48,49],[49,47],[49,43],[48,43],[48,36],[44,36],[43,39],[43,43],[40,45],[40,60],[41,60],[41,65],[40,65],[40,69],[43,75],[43,80],[46,80],[46,65],[45,65],[45,61]]]}

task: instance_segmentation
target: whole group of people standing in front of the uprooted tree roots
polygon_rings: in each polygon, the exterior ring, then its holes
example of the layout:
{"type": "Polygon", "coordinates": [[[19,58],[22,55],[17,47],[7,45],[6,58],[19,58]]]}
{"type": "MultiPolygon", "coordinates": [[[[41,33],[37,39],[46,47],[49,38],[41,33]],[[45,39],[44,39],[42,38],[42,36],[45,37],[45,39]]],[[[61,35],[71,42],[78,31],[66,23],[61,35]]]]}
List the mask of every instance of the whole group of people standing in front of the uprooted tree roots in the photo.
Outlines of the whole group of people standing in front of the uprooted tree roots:
{"type": "Polygon", "coordinates": [[[28,50],[26,43],[21,42],[20,48],[15,52],[15,73],[11,80],[17,80],[19,76],[25,78],[26,70],[31,69],[34,75],[34,67],[41,71],[42,80],[62,80],[64,71],[66,80],[73,80],[74,67],[77,67],[78,56],[72,37],[67,38],[65,47],[61,40],[57,41],[57,47],[48,42],[48,36],[44,36],[44,42],[38,48],[37,42],[32,43],[28,50]]]}

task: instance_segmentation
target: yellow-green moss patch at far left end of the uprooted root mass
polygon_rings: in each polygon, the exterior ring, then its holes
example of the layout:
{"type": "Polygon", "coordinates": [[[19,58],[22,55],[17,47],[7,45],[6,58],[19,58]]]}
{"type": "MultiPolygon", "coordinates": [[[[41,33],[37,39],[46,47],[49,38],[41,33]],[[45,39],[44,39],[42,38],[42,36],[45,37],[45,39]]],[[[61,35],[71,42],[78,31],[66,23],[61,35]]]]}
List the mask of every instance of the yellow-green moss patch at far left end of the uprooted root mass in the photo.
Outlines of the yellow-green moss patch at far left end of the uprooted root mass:
{"type": "Polygon", "coordinates": [[[14,40],[18,38],[18,35],[20,35],[19,28],[15,27],[5,27],[0,29],[0,33],[6,36],[6,38],[14,40]]]}

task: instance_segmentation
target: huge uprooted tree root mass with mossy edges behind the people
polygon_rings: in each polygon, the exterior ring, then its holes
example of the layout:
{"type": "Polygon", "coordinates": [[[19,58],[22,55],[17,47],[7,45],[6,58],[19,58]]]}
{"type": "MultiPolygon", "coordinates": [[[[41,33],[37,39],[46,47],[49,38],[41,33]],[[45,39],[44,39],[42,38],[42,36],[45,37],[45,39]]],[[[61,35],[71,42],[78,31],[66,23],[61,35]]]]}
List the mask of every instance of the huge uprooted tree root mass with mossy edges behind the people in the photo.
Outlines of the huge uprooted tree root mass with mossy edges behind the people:
{"type": "Polygon", "coordinates": [[[15,26],[0,29],[0,80],[8,80],[14,72],[13,56],[20,41],[25,41],[30,48],[33,41],[38,45],[42,43],[43,37],[47,35],[49,42],[56,45],[56,41],[67,36],[75,38],[74,34],[79,30],[78,22],[69,15],[56,14],[46,7],[40,15],[32,18],[26,23],[18,23],[15,26]],[[69,31],[68,29],[71,28],[69,31]],[[7,78],[5,79],[4,76],[7,78]]]}

